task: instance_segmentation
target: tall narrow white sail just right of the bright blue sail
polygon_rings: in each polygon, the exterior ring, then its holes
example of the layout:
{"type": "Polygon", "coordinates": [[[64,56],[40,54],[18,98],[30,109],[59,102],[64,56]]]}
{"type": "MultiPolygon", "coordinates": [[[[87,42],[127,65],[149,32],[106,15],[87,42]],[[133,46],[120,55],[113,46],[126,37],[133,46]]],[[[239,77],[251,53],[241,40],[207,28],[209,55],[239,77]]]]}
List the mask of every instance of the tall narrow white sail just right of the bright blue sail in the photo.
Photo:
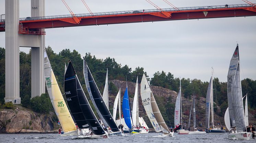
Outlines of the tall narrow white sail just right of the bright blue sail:
{"type": "Polygon", "coordinates": [[[138,92],[138,76],[135,85],[135,94],[133,98],[133,105],[132,105],[132,123],[133,126],[136,127],[139,125],[139,92],[138,92]]]}

